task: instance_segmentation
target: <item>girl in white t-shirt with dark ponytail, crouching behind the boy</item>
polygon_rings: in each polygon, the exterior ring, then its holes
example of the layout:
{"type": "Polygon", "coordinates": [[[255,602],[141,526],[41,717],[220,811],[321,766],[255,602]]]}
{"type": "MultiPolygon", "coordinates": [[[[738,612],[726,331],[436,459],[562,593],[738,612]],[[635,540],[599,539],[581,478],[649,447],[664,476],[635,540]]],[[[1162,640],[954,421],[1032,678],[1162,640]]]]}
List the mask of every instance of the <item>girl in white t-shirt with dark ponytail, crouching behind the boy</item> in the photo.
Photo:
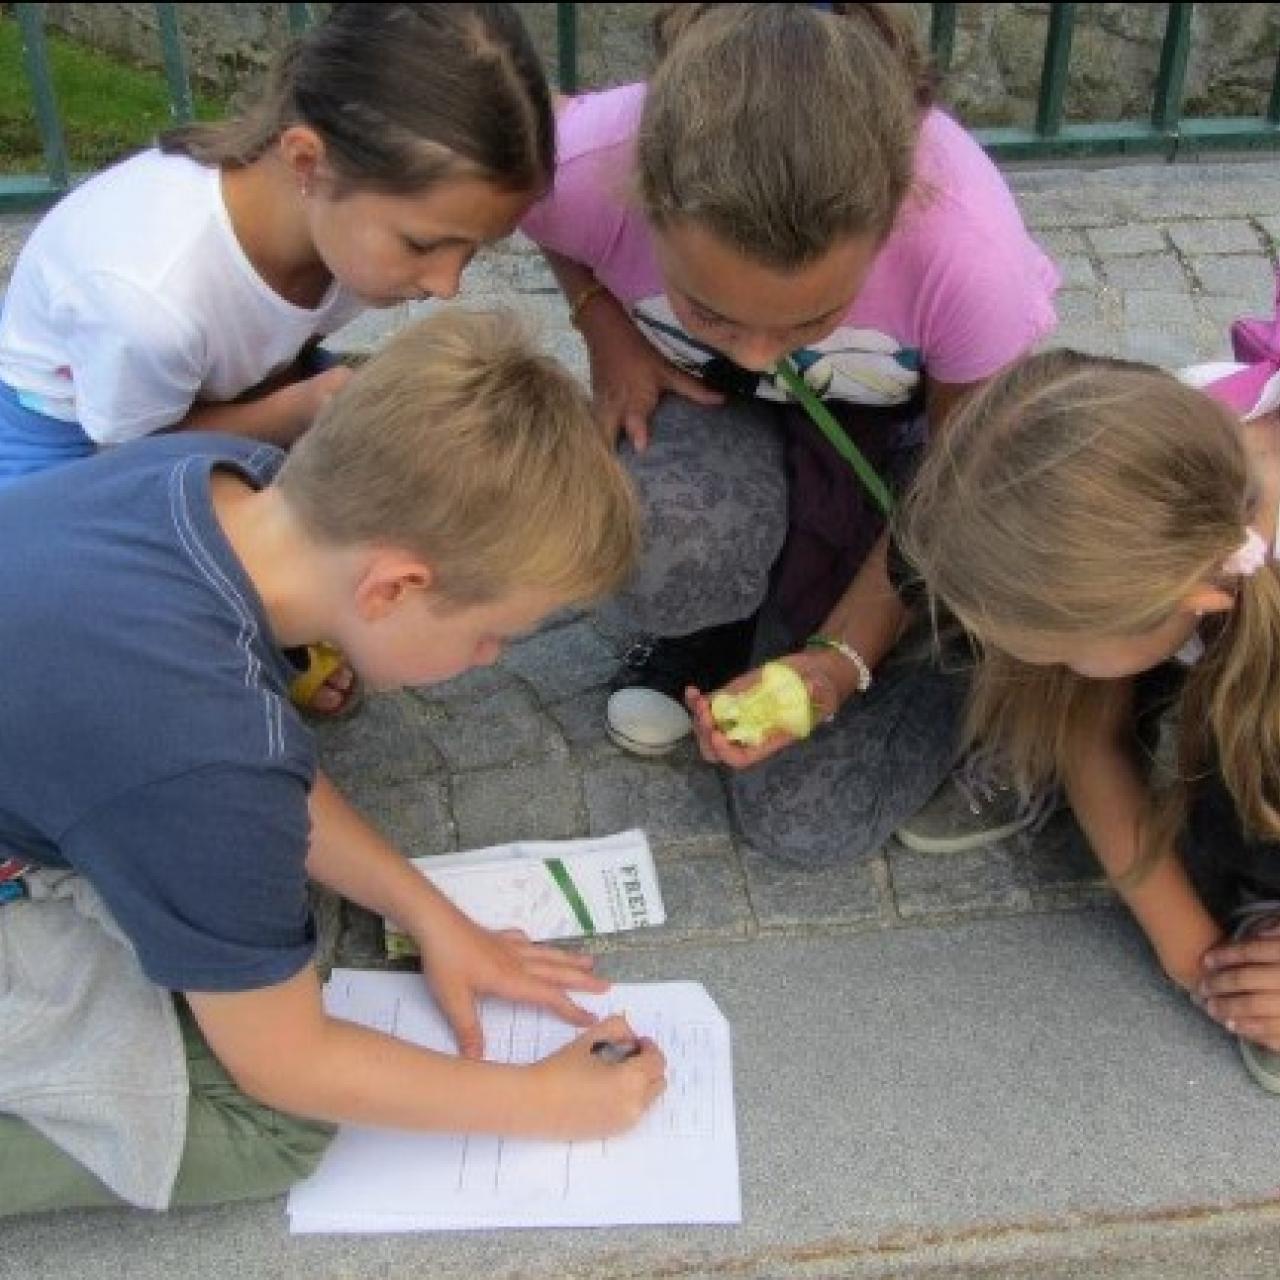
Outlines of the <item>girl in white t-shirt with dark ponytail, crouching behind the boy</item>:
{"type": "Polygon", "coordinates": [[[161,430],[289,444],[349,376],[319,340],[453,297],[553,166],[511,5],[334,6],[250,114],[170,131],[36,228],[0,317],[0,486],[161,430]]]}

